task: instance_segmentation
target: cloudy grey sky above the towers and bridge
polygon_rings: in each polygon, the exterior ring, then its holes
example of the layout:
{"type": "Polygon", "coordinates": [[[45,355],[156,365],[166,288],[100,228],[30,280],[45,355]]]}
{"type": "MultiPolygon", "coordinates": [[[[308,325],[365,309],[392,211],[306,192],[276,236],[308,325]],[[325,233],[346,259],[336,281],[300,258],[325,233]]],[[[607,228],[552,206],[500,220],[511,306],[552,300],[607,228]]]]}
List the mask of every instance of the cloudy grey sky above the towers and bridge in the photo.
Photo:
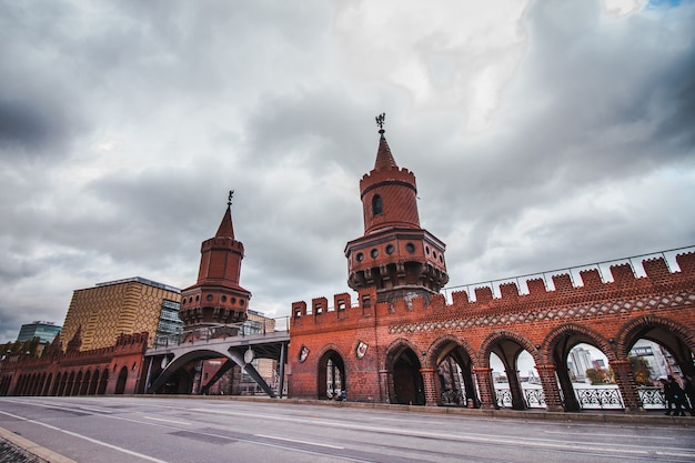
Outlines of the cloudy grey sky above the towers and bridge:
{"type": "Polygon", "coordinates": [[[695,244],[691,1],[0,0],[0,342],[195,282],[235,190],[272,316],[346,290],[386,138],[450,288],[695,244]]]}

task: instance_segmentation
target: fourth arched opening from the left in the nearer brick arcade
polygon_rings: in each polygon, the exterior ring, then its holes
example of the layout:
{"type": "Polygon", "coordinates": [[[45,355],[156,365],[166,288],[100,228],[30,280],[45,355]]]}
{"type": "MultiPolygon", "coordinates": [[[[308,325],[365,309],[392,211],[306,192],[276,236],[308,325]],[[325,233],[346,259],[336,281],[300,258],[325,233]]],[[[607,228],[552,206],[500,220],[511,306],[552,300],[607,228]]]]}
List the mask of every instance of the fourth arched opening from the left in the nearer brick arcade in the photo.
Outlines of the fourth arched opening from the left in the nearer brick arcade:
{"type": "Polygon", "coordinates": [[[496,406],[545,407],[535,361],[524,345],[515,339],[501,338],[491,345],[488,362],[496,406]]]}

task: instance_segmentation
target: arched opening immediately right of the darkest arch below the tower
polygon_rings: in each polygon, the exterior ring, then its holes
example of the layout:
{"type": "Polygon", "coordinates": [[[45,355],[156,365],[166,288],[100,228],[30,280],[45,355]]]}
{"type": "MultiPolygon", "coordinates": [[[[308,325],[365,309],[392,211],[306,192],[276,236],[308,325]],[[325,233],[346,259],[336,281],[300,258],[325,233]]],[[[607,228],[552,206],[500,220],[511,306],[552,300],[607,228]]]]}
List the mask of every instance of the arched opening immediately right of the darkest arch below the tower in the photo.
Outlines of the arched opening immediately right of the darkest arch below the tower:
{"type": "Polygon", "coordinates": [[[442,405],[479,407],[471,356],[454,341],[446,341],[434,353],[442,405]]]}

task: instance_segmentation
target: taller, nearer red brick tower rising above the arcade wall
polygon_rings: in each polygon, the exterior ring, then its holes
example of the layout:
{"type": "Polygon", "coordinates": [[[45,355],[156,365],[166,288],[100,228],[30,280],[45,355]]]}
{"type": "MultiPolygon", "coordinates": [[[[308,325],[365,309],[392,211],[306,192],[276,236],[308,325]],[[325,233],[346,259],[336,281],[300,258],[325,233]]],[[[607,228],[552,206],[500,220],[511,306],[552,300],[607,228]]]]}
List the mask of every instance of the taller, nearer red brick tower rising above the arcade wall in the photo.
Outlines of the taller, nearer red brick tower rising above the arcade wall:
{"type": "Polygon", "coordinates": [[[360,181],[364,235],[345,246],[348,284],[355,291],[375,288],[377,302],[429,300],[449,281],[445,244],[420,228],[415,175],[395,163],[384,137],[384,114],[376,123],[376,162],[360,181]]]}

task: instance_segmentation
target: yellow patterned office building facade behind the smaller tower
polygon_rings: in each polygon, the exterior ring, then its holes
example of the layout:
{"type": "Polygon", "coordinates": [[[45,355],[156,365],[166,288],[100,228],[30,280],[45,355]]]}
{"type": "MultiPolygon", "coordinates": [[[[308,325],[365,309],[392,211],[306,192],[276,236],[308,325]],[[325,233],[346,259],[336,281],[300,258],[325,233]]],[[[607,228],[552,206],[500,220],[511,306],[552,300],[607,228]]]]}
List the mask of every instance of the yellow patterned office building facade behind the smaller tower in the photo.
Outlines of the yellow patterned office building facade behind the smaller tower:
{"type": "Polygon", "coordinates": [[[81,329],[81,351],[112,346],[117,338],[147,331],[153,345],[164,305],[181,303],[181,291],[140,276],[75,290],[61,339],[67,345],[81,329]]]}

